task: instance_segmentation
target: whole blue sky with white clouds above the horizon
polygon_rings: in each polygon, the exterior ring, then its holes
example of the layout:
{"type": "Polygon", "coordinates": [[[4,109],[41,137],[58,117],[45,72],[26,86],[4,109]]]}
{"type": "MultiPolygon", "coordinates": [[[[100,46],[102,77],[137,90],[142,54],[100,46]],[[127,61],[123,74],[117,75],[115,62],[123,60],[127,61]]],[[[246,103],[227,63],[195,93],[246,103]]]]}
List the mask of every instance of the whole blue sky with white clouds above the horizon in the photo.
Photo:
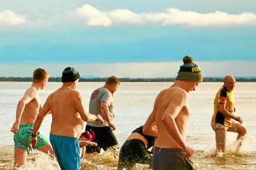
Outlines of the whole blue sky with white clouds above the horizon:
{"type": "Polygon", "coordinates": [[[254,0],[1,0],[0,76],[256,76],[254,0]]]}

